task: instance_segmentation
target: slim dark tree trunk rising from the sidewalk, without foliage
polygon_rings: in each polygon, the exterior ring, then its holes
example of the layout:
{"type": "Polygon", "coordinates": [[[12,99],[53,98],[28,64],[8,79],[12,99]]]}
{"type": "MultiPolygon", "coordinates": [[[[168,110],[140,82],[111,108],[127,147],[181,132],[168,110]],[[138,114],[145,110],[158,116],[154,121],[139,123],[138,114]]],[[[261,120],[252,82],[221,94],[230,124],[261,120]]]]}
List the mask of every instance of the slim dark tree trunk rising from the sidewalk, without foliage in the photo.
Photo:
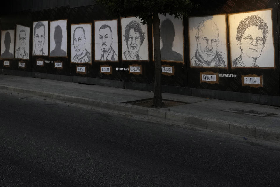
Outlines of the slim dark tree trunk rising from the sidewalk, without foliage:
{"type": "Polygon", "coordinates": [[[158,18],[158,13],[153,13],[153,39],[155,59],[153,107],[160,108],[162,107],[163,102],[161,98],[160,20],[158,18]]]}

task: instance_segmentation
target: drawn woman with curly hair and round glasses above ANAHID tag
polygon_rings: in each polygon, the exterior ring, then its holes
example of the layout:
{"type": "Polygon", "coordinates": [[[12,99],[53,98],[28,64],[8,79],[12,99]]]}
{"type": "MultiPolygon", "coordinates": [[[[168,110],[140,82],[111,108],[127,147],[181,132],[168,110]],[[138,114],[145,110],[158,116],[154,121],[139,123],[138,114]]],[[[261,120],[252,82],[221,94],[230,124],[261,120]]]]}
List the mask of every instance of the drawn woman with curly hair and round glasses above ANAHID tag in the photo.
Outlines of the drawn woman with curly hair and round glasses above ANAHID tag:
{"type": "Polygon", "coordinates": [[[235,37],[241,55],[232,61],[233,67],[259,67],[256,60],[265,47],[267,33],[267,25],[261,17],[251,15],[241,20],[235,37]]]}

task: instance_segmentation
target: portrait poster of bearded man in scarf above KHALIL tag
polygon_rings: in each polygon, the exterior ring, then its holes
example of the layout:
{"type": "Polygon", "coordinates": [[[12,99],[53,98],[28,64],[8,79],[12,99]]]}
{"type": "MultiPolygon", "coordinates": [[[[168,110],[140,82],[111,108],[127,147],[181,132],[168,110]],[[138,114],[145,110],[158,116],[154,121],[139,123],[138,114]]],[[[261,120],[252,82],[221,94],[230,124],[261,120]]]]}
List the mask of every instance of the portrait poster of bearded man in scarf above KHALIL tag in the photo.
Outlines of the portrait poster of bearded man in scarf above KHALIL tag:
{"type": "Polygon", "coordinates": [[[227,68],[226,15],[190,17],[191,67],[227,68]]]}

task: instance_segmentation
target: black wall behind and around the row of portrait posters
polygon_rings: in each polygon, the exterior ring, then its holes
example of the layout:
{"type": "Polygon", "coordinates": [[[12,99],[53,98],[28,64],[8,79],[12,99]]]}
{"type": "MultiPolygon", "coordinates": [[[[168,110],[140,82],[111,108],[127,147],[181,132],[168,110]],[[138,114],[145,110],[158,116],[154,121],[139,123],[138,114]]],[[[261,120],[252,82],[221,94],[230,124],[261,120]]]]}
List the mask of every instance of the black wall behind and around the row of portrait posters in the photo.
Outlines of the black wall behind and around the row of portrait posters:
{"type": "MultiPolygon", "coordinates": [[[[205,2],[203,0],[196,1],[200,4],[197,10],[192,11],[190,16],[201,16],[201,15],[214,15],[214,14],[229,14],[238,13],[244,11],[253,11],[266,8],[272,8],[273,15],[273,30],[274,30],[274,47],[275,47],[275,68],[272,69],[256,69],[256,68],[244,68],[244,69],[232,69],[230,63],[228,63],[228,69],[218,68],[191,68],[189,62],[189,46],[188,46],[188,19],[184,18],[184,64],[176,62],[162,62],[163,65],[174,66],[175,75],[166,76],[162,75],[162,84],[169,86],[180,86],[190,87],[198,89],[212,89],[221,91],[232,91],[232,92],[244,92],[254,93],[261,95],[272,95],[279,96],[279,3],[277,0],[221,0],[221,1],[210,1],[205,2]],[[208,84],[200,83],[200,72],[211,71],[213,73],[225,73],[225,74],[237,74],[238,78],[220,77],[219,84],[208,84]],[[263,77],[263,87],[252,88],[248,86],[241,86],[241,75],[256,74],[263,77]]],[[[6,3],[7,4],[7,3],[6,3]]],[[[36,57],[30,56],[31,60],[26,60],[26,68],[18,68],[18,60],[12,59],[10,67],[3,67],[3,60],[1,60],[0,68],[21,70],[21,71],[33,71],[41,73],[50,73],[57,75],[70,75],[70,76],[83,76],[92,78],[101,78],[109,80],[118,80],[126,82],[137,82],[153,84],[153,61],[152,59],[152,29],[148,27],[148,41],[149,41],[149,62],[128,62],[119,60],[118,62],[95,62],[94,61],[94,45],[92,45],[92,65],[85,64],[87,67],[87,73],[81,75],[76,73],[76,64],[70,63],[70,28],[71,24],[77,23],[92,23],[92,44],[94,44],[94,20],[107,20],[115,19],[108,15],[101,6],[95,4],[94,1],[35,1],[27,0],[24,1],[13,1],[12,4],[7,4],[6,9],[12,11],[4,11],[1,15],[1,29],[15,29],[16,24],[21,24],[32,28],[33,21],[43,20],[68,20],[68,58],[51,58],[44,57],[44,60],[60,60],[63,62],[63,69],[58,70],[53,68],[53,64],[45,63],[44,67],[36,66],[36,57]],[[39,3],[40,2],[40,3],[39,3]],[[27,11],[24,11],[27,10],[27,11]],[[112,66],[113,73],[106,75],[100,72],[101,65],[112,66]],[[139,64],[142,65],[142,74],[134,75],[129,74],[127,71],[115,71],[116,67],[127,68],[129,65],[139,64]]],[[[3,7],[2,7],[3,9],[3,7]]],[[[118,46],[119,54],[122,56],[122,34],[121,34],[120,18],[118,18],[118,46]]],[[[32,30],[32,29],[31,29],[32,30]]],[[[227,33],[228,35],[228,33],[227,33]]],[[[32,36],[32,32],[31,32],[32,36]]],[[[228,36],[227,36],[228,37],[228,36]]],[[[31,37],[32,38],[32,37],[31,37]]],[[[229,41],[229,38],[227,38],[229,41]]],[[[30,43],[30,52],[32,51],[32,41],[30,43]]],[[[230,51],[228,44],[228,62],[230,62],[230,51]]]]}

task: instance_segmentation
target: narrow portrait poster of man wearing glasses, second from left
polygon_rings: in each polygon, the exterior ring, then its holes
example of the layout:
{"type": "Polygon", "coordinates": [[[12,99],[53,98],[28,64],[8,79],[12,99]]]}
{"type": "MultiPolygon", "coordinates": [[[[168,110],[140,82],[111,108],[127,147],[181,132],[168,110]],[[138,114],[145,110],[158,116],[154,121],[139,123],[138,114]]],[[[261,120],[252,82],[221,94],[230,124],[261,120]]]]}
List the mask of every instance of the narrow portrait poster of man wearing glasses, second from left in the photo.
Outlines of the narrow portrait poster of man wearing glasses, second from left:
{"type": "Polygon", "coordinates": [[[15,35],[15,58],[29,59],[30,28],[17,25],[15,35]]]}

